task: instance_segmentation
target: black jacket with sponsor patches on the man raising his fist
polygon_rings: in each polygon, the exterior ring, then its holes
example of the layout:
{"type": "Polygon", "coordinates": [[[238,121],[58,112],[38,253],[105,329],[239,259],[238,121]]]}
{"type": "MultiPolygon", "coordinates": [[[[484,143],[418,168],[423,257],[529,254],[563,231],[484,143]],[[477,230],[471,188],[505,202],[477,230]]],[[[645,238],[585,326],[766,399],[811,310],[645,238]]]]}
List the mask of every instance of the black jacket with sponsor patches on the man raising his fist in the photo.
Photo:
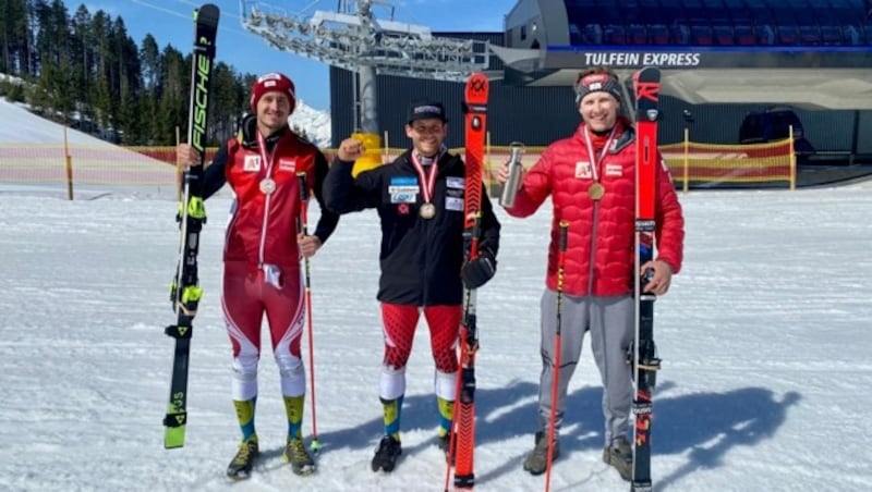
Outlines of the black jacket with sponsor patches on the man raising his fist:
{"type": "MultiPolygon", "coordinates": [[[[382,276],[378,300],[415,306],[458,305],[463,299],[460,268],[465,247],[463,205],[465,165],[445,152],[438,174],[432,219],[420,216],[423,185],[407,150],[393,162],[352,177],[353,162],[334,160],[324,182],[324,201],[337,213],[367,208],[382,219],[382,276]]],[[[499,222],[482,186],[480,251],[496,257],[499,222]]]]}

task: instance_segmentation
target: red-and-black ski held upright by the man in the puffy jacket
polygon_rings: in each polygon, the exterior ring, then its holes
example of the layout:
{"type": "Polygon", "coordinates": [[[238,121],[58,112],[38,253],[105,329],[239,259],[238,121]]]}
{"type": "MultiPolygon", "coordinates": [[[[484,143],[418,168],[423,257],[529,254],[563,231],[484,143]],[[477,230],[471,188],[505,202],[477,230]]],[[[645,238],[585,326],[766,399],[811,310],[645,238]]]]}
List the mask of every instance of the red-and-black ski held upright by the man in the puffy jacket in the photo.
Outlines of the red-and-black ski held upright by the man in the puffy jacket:
{"type": "MultiPolygon", "coordinates": [[[[635,89],[635,336],[632,353],[633,383],[635,386],[632,410],[633,476],[630,490],[650,492],[651,480],[651,420],[653,393],[661,360],[654,346],[654,294],[643,293],[650,275],[638,274],[640,267],[654,258],[655,183],[657,165],[657,118],[661,73],[655,67],[644,67],[633,75],[635,89]]],[[[650,271],[650,273],[653,273],[650,271]]]]}

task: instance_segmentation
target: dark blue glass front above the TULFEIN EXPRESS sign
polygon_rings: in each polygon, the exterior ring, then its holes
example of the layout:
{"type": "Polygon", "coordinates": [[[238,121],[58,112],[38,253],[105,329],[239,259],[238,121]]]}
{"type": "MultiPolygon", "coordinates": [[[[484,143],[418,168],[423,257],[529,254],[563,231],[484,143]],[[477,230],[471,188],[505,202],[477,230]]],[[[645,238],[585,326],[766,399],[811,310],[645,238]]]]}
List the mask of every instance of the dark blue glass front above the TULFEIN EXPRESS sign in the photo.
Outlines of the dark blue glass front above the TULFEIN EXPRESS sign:
{"type": "Polygon", "coordinates": [[[867,0],[566,0],[572,46],[872,46],[867,0]]]}

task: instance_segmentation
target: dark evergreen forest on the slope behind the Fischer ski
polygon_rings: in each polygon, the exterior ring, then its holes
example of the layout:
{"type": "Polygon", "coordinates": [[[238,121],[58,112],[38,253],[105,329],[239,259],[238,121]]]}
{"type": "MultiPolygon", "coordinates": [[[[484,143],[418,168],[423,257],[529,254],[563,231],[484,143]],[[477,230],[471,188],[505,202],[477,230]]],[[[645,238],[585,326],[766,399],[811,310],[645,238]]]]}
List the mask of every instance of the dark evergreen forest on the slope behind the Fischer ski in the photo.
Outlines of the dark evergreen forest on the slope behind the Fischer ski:
{"type": "MultiPolygon", "coordinates": [[[[137,46],[123,19],[84,4],[71,14],[61,0],[0,0],[0,74],[9,75],[0,97],[117,144],[175,145],[177,127],[184,139],[191,53],[183,49],[161,48],[150,34],[137,46]]],[[[255,77],[216,63],[210,145],[235,131],[255,77]]]]}

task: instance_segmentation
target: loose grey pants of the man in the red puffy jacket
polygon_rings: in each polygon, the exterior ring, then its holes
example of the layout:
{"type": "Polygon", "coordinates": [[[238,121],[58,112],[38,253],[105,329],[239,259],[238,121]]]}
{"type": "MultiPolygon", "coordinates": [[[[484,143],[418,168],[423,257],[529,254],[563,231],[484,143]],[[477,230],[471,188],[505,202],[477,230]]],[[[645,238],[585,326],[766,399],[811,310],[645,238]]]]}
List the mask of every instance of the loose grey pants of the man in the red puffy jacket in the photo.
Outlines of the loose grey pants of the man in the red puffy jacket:
{"type": "MultiPolygon", "coordinates": [[[[557,332],[557,293],[545,290],[542,295],[541,352],[542,376],[538,389],[538,416],[542,430],[548,430],[554,381],[554,349],[557,332]]],[[[574,297],[564,294],[560,306],[560,371],[557,385],[555,429],[559,429],[566,413],[569,380],[581,356],[584,333],[591,333],[596,367],[603,384],[603,416],[605,445],[626,436],[632,404],[632,380],[627,350],[633,340],[633,298],[574,297]]]]}

